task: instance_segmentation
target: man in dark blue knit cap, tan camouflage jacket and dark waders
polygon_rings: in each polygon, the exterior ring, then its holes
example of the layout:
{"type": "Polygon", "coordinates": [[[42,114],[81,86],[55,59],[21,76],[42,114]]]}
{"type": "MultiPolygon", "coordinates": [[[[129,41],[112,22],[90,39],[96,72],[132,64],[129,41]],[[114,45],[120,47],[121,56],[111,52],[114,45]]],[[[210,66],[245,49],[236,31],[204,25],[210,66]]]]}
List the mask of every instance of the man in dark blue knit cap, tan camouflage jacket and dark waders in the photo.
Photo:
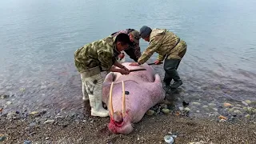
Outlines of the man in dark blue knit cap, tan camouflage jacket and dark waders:
{"type": "Polygon", "coordinates": [[[163,82],[166,83],[165,90],[167,93],[174,92],[178,86],[182,85],[182,79],[178,75],[178,65],[183,56],[186,54],[186,42],[181,38],[166,29],[153,29],[148,26],[142,26],[140,29],[140,36],[146,42],[150,42],[150,46],[146,48],[142,56],[138,58],[138,63],[133,62],[131,66],[138,66],[145,63],[154,52],[158,53],[158,59],[155,64],[164,62],[165,78],[163,82]],[[174,83],[170,86],[170,82],[174,79],[174,83]]]}

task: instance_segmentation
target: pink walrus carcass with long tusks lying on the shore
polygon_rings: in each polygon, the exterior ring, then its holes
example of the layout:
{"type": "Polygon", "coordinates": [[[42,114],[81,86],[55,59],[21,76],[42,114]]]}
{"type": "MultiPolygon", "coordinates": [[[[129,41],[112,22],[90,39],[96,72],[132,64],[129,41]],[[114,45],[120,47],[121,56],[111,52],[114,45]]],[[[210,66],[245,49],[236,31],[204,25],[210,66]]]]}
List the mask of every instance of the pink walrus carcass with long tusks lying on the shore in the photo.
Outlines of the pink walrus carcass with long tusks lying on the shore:
{"type": "Polygon", "coordinates": [[[165,98],[161,78],[146,63],[141,66],[129,66],[128,75],[109,73],[103,82],[102,101],[110,110],[109,130],[116,134],[130,134],[133,123],[139,122],[150,107],[165,98]],[[111,98],[112,95],[112,98],[111,98]]]}

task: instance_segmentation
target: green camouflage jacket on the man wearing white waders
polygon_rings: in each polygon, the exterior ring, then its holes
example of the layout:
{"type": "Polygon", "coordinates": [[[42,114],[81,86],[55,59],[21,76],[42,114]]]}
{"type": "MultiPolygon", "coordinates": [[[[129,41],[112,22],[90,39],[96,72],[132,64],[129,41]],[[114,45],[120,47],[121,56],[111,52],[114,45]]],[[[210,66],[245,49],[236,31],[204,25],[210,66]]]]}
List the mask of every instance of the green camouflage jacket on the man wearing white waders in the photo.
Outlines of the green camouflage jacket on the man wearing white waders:
{"type": "Polygon", "coordinates": [[[114,44],[115,38],[109,36],[82,46],[74,52],[74,64],[78,72],[99,66],[102,71],[110,70],[118,58],[118,50],[114,44]]]}

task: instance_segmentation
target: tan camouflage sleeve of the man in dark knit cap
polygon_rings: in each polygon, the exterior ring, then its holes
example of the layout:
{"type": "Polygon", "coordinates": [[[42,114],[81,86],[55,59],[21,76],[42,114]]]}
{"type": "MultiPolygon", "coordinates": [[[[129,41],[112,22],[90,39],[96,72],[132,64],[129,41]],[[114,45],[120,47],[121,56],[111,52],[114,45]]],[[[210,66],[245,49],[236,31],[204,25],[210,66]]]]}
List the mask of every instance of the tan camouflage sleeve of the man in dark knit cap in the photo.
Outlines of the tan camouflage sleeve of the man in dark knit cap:
{"type": "Polygon", "coordinates": [[[153,54],[156,50],[158,50],[160,46],[160,43],[158,42],[150,42],[150,46],[146,48],[146,50],[142,53],[142,56],[138,58],[138,63],[141,65],[145,63],[153,54]]]}

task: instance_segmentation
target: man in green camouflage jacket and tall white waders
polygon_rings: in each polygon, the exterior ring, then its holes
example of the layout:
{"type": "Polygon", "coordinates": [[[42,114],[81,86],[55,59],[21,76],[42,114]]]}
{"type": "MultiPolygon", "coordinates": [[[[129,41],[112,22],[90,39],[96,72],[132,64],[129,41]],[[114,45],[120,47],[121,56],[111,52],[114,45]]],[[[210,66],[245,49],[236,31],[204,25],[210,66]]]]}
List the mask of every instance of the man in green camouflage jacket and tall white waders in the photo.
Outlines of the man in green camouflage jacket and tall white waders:
{"type": "Polygon", "coordinates": [[[126,66],[117,61],[118,54],[130,45],[127,34],[107,37],[82,46],[74,53],[74,63],[81,74],[83,100],[90,101],[91,115],[109,116],[109,111],[102,107],[102,71],[129,74],[126,66]],[[114,65],[114,66],[113,66],[114,65]],[[117,66],[118,68],[116,68],[117,66]]]}

